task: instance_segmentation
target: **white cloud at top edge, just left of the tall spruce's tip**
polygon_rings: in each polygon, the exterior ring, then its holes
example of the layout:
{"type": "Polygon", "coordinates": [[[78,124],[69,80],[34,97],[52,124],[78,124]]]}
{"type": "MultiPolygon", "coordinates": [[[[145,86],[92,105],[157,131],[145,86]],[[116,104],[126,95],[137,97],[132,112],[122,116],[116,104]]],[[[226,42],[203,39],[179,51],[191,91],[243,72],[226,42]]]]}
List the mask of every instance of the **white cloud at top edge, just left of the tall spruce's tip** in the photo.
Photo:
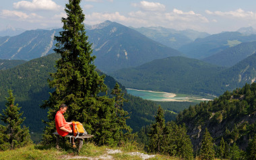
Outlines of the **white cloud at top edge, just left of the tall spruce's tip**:
{"type": "Polygon", "coordinates": [[[19,1],[17,3],[13,3],[13,8],[24,9],[29,11],[36,11],[36,10],[56,11],[56,10],[62,9],[60,5],[57,5],[52,0],[33,0],[32,2],[19,1]]]}

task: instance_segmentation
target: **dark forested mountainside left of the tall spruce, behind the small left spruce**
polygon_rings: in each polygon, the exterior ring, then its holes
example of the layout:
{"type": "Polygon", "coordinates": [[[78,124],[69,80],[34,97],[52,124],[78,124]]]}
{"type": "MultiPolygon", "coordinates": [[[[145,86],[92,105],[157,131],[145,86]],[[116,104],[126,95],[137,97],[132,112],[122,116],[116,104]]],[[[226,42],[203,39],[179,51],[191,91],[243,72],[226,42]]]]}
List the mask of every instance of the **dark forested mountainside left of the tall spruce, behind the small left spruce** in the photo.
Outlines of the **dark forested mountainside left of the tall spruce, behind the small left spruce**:
{"type": "Polygon", "coordinates": [[[43,100],[49,98],[47,79],[55,71],[56,54],[37,58],[12,69],[0,71],[0,110],[5,108],[7,90],[12,89],[16,101],[26,117],[24,124],[30,131],[43,129],[42,119],[46,120],[46,110],[40,109],[43,100]]]}

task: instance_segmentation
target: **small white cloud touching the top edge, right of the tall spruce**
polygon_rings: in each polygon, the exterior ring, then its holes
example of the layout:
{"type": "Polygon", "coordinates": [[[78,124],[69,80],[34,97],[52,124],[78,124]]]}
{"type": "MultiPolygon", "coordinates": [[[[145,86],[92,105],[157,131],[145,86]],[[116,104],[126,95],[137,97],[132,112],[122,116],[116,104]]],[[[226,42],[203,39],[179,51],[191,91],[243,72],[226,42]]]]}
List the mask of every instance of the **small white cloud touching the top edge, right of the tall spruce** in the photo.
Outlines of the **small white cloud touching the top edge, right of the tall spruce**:
{"type": "Polygon", "coordinates": [[[133,7],[140,7],[145,11],[164,11],[165,5],[161,3],[154,3],[148,1],[141,1],[140,3],[132,3],[133,7]]]}

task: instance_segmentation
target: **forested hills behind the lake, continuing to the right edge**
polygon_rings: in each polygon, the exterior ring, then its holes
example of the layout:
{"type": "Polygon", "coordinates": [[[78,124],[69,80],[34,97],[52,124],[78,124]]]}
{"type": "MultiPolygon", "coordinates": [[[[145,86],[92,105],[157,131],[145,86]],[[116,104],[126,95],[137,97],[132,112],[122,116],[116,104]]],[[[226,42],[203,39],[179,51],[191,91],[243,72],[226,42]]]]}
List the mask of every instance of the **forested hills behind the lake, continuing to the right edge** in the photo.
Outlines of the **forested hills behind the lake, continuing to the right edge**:
{"type": "Polygon", "coordinates": [[[220,95],[256,80],[256,54],[233,67],[224,68],[181,56],[154,60],[139,67],[111,73],[125,87],[187,93],[220,95]]]}

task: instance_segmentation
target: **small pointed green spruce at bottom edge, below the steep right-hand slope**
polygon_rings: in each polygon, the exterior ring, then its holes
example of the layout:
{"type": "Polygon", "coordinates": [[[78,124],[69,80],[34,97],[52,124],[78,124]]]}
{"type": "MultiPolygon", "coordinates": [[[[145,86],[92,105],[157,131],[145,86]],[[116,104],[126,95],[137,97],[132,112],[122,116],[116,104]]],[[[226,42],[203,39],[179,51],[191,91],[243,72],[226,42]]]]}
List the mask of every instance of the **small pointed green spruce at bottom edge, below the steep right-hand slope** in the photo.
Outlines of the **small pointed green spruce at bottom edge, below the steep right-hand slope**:
{"type": "Polygon", "coordinates": [[[212,143],[212,136],[207,128],[205,128],[205,133],[201,141],[201,151],[199,156],[201,159],[214,159],[214,143],[212,143]]]}

